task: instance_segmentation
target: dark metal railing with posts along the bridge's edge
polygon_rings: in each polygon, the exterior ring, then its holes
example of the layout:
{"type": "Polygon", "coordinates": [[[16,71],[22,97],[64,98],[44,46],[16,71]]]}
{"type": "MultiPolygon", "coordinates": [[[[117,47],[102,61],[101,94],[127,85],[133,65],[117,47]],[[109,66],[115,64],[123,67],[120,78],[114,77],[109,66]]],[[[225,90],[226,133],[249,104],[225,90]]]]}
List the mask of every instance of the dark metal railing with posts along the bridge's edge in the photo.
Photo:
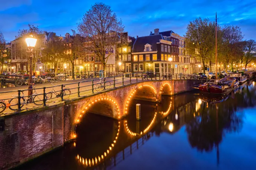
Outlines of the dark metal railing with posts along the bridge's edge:
{"type": "Polygon", "coordinates": [[[172,79],[196,79],[196,77],[188,74],[139,72],[97,78],[93,80],[84,80],[75,83],[60,85],[52,84],[52,86],[41,88],[35,88],[34,85],[33,89],[0,92],[0,115],[28,108],[43,107],[46,106],[46,104],[56,104],[59,101],[77,98],[80,96],[88,96],[92,93],[126,86],[138,81],[172,79]],[[26,93],[28,95],[25,95],[26,93]]]}

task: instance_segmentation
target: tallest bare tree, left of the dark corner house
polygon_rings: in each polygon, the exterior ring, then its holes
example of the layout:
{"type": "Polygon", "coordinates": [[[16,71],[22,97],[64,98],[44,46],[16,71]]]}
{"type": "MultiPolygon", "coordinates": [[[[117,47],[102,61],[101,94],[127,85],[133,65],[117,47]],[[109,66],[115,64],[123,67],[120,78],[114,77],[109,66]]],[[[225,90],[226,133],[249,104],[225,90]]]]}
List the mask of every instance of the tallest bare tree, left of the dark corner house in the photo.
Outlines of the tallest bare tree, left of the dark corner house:
{"type": "Polygon", "coordinates": [[[95,3],[84,14],[77,28],[81,36],[86,38],[84,48],[88,53],[96,54],[105,71],[107,60],[117,47],[118,33],[124,31],[122,20],[117,19],[110,6],[95,3]]]}

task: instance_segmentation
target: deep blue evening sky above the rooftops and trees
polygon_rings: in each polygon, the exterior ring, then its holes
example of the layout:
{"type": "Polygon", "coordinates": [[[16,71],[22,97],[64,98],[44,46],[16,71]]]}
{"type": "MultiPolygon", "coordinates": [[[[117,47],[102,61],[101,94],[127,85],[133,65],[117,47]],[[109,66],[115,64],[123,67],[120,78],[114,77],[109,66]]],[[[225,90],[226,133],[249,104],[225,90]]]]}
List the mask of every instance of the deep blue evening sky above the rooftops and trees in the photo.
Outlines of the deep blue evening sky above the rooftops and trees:
{"type": "MultiPolygon", "coordinates": [[[[28,24],[57,35],[71,33],[92,4],[98,0],[4,0],[0,5],[0,30],[7,41],[28,24]]],[[[123,20],[131,36],[145,36],[159,28],[184,35],[189,21],[197,17],[233,24],[244,39],[256,39],[255,0],[102,0],[123,20]]]]}

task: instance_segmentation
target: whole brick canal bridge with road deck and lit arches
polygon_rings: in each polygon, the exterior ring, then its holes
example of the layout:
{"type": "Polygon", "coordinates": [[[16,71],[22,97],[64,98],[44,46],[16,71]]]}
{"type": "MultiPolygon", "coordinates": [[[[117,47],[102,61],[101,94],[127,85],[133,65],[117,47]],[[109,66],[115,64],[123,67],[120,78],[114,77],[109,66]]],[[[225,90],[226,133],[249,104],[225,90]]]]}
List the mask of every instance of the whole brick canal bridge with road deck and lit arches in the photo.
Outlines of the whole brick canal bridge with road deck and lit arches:
{"type": "MultiPolygon", "coordinates": [[[[25,94],[27,89],[8,94],[1,92],[1,99],[2,96],[10,96],[18,92],[18,96],[15,96],[18,101],[13,104],[16,110],[3,112],[4,114],[0,116],[0,167],[20,164],[63,146],[65,142],[76,137],[77,123],[80,123],[81,117],[86,116],[88,112],[122,119],[126,116],[132,99],[147,100],[157,104],[161,102],[161,95],[186,92],[201,83],[202,80],[173,80],[173,77],[169,76],[141,78],[132,74],[86,80],[37,88],[35,90],[39,93],[34,96],[41,96],[42,100],[37,101],[41,102],[41,105],[29,102],[26,108],[21,99],[29,96],[22,96],[21,93],[25,94]],[[102,87],[97,89],[100,81],[102,87]],[[110,82],[109,86],[107,82],[110,82]],[[47,98],[52,88],[57,95],[47,98]],[[65,99],[66,88],[69,88],[71,93],[65,99]],[[24,107],[21,107],[22,105],[24,107]]],[[[144,132],[146,133],[148,129],[146,128],[144,132]]]]}

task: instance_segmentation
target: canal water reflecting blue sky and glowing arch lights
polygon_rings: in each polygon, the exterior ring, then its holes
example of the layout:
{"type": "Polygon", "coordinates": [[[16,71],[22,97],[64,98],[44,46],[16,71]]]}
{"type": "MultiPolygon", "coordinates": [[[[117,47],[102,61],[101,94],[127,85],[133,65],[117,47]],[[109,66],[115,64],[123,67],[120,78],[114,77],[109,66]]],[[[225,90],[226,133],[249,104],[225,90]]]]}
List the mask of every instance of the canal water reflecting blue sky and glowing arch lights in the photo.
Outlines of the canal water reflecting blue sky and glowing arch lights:
{"type": "Polygon", "coordinates": [[[161,104],[133,100],[124,120],[87,113],[76,141],[17,169],[254,170],[255,110],[254,81],[224,97],[193,91],[162,96],[161,104]]]}

